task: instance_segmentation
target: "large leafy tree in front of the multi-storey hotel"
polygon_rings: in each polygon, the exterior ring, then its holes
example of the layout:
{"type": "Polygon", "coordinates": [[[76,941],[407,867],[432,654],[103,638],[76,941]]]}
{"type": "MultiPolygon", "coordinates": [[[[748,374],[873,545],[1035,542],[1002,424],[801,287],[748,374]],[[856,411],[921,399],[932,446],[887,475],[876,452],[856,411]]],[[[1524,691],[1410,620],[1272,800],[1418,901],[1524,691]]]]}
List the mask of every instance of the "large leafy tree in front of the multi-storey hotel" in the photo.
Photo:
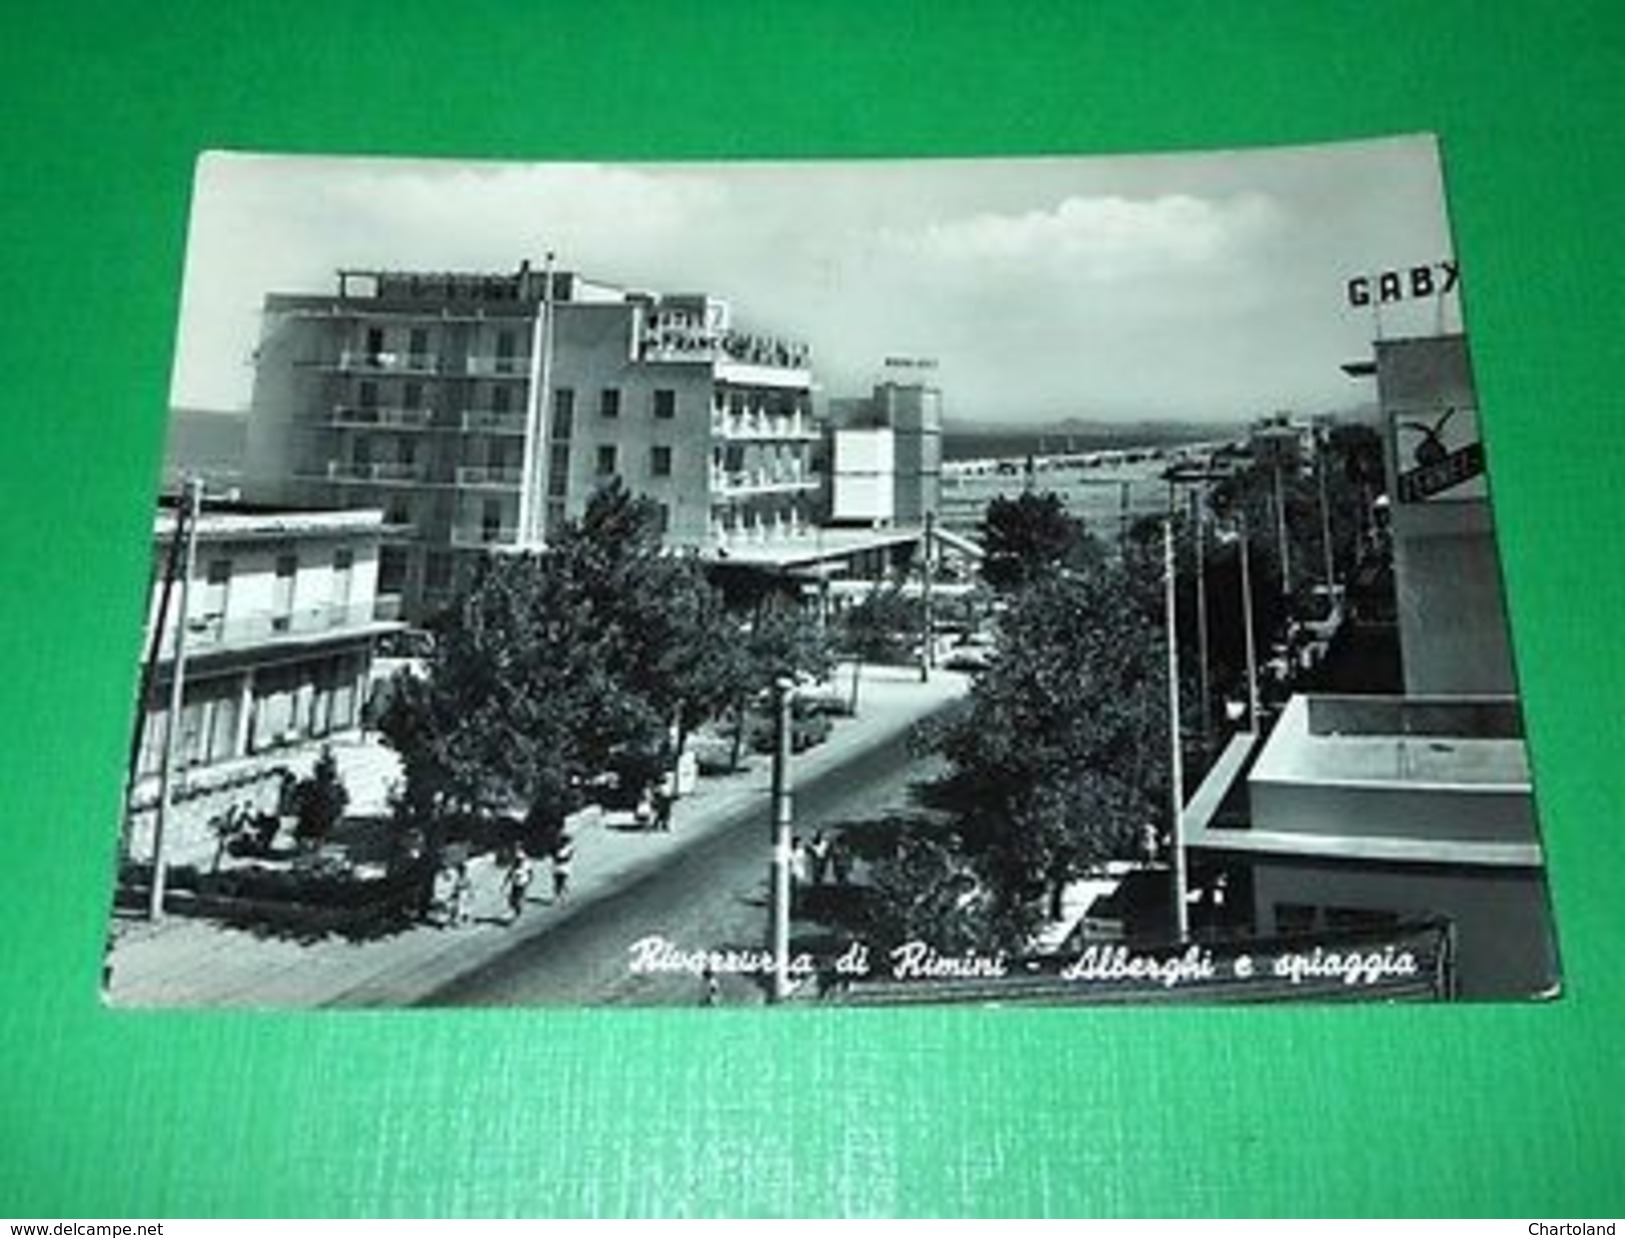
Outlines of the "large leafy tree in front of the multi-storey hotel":
{"type": "Polygon", "coordinates": [[[540,842],[608,770],[653,777],[738,674],[733,630],[694,559],[661,549],[653,504],[619,484],[535,554],[491,556],[436,624],[427,676],[380,721],[400,809],[520,811],[540,842]]]}

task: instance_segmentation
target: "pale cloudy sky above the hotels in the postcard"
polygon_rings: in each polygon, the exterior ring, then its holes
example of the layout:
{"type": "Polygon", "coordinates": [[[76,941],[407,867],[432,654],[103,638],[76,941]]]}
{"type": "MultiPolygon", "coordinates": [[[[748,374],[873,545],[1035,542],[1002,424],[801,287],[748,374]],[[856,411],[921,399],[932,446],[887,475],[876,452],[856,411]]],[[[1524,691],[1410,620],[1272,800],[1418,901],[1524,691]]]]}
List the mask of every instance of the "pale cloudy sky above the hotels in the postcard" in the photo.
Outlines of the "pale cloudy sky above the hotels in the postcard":
{"type": "MultiPolygon", "coordinates": [[[[240,409],[266,292],[338,266],[561,268],[712,292],[826,395],[934,357],[951,421],[1235,419],[1363,393],[1350,276],[1451,258],[1436,146],[1090,159],[505,164],[206,154],[174,403],[240,409]]],[[[1383,331],[1454,327],[1454,297],[1383,331]]]]}

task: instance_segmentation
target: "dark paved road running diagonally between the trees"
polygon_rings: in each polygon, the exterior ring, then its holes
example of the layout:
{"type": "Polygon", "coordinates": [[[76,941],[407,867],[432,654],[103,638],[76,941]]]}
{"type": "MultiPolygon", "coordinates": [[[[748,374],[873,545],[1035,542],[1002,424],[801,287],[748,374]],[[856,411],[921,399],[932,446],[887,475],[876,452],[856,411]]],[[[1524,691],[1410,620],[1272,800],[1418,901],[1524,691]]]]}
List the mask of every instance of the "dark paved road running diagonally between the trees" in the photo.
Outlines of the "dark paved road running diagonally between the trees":
{"type": "MultiPolygon", "coordinates": [[[[907,734],[795,788],[795,830],[871,819],[908,804],[930,762],[910,759],[907,734]]],[[[793,767],[791,767],[793,768],[793,767]]],[[[436,993],[436,1006],[653,1004],[697,1006],[702,981],[634,975],[629,946],[663,934],[686,950],[760,949],[767,934],[770,803],[674,856],[642,881],[583,905],[541,937],[436,993]]],[[[726,976],[720,1001],[759,1002],[752,980],[726,976]]]]}

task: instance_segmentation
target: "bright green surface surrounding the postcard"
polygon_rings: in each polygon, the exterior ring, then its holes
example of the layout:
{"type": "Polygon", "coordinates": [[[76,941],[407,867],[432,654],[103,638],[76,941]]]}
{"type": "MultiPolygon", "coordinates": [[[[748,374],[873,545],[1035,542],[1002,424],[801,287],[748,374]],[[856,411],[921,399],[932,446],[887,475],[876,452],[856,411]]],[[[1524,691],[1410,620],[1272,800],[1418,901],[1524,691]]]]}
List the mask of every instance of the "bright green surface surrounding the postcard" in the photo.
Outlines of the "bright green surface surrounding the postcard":
{"type": "Polygon", "coordinates": [[[73,0],[0,21],[0,1214],[1620,1210],[1617,5],[73,0]],[[1450,175],[1560,1002],[98,1004],[200,149],[1025,154],[1417,130],[1450,175]]]}

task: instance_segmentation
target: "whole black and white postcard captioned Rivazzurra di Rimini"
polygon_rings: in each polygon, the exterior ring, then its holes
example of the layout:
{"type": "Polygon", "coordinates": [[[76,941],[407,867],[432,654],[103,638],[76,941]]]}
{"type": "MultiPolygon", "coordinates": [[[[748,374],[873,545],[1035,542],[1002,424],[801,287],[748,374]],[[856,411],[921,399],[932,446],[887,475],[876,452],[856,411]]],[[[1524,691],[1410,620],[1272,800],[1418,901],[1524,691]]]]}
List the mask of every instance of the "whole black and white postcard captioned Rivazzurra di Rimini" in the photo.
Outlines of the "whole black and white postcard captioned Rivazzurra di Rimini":
{"type": "Polygon", "coordinates": [[[1557,996],[1446,154],[200,156],[106,1001],[1557,996]]]}

